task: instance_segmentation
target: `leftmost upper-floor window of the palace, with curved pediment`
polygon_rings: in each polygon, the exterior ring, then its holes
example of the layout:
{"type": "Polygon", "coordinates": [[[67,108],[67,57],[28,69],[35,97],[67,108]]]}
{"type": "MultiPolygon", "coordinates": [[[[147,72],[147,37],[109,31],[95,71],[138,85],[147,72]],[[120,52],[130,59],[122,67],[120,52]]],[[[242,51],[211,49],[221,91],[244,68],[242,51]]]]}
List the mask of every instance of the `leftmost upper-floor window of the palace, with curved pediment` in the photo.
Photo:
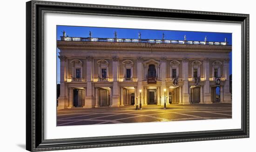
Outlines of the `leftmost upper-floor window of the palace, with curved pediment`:
{"type": "Polygon", "coordinates": [[[82,62],[79,59],[73,59],[70,61],[72,64],[72,78],[74,80],[79,80],[83,78],[83,67],[82,62]]]}

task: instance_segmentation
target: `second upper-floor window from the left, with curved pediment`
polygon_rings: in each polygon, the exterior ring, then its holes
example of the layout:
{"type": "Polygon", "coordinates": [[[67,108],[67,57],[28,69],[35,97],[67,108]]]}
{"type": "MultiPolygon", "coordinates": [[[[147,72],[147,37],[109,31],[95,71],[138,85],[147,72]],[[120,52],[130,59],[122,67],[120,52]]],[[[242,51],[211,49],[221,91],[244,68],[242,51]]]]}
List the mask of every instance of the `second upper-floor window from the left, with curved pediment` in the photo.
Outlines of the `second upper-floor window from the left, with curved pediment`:
{"type": "Polygon", "coordinates": [[[108,80],[108,61],[100,59],[97,61],[99,67],[98,77],[100,81],[108,80]]]}

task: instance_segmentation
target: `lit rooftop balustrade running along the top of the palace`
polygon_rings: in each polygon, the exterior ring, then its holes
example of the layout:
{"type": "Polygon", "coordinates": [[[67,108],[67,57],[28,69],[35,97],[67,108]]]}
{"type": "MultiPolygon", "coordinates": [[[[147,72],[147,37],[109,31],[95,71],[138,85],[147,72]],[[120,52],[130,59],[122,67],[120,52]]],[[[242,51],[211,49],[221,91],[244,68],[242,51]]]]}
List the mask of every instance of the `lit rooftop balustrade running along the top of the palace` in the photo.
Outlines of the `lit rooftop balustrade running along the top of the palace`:
{"type": "Polygon", "coordinates": [[[196,44],[196,45],[228,45],[228,42],[187,41],[165,39],[134,39],[134,38],[81,38],[63,37],[61,41],[88,41],[88,42],[125,42],[125,43],[155,43],[155,44],[196,44]]]}

